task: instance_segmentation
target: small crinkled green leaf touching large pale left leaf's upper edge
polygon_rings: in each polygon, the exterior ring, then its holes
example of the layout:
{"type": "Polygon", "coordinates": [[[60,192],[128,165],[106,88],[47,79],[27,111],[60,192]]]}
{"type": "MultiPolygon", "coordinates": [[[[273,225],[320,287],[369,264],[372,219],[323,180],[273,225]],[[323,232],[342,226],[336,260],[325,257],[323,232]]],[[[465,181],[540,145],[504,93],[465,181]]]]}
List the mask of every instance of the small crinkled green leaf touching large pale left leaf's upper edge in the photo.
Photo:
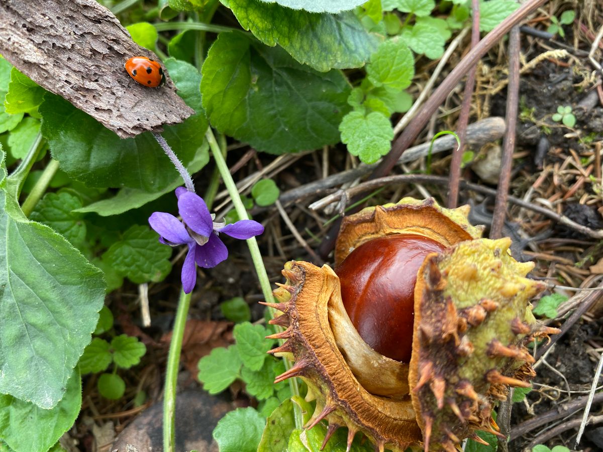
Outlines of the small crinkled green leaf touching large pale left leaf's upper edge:
{"type": "Polygon", "coordinates": [[[81,207],[78,196],[69,192],[46,193],[36,204],[30,218],[50,226],[74,246],[86,240],[86,223],[81,213],[74,213],[81,207]]]}

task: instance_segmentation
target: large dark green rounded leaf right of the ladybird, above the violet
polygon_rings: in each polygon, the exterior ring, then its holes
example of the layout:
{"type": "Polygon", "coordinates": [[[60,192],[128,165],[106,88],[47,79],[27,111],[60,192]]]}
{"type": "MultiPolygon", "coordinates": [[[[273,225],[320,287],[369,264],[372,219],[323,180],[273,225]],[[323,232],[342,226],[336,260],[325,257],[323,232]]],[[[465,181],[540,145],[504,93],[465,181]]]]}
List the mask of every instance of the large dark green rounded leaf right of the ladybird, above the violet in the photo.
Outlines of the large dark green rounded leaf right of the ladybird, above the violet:
{"type": "Polygon", "coordinates": [[[241,33],[221,33],[203,64],[203,106],[214,127],[273,154],[339,142],[350,86],[241,33]]]}

